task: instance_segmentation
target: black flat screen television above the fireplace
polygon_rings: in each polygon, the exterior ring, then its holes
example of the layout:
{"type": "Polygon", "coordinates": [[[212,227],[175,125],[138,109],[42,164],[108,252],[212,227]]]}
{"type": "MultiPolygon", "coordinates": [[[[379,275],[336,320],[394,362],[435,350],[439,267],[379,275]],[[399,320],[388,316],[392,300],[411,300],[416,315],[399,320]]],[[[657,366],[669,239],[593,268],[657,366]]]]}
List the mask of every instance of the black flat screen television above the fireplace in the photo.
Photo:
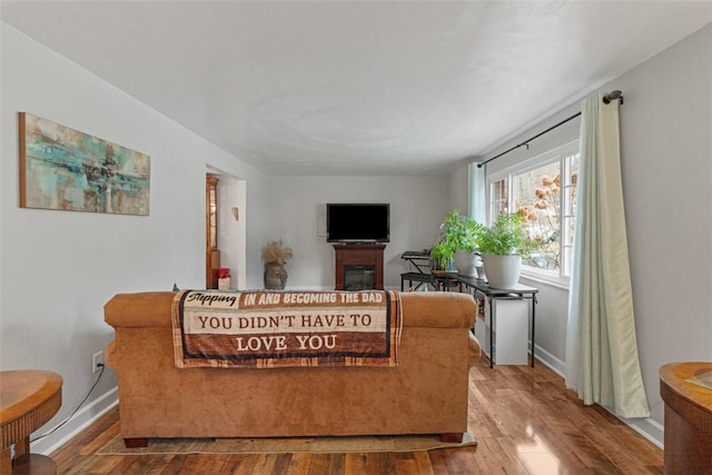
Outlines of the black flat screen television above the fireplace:
{"type": "Polygon", "coordinates": [[[388,243],[390,205],[387,202],[328,202],[327,243],[388,243]]]}

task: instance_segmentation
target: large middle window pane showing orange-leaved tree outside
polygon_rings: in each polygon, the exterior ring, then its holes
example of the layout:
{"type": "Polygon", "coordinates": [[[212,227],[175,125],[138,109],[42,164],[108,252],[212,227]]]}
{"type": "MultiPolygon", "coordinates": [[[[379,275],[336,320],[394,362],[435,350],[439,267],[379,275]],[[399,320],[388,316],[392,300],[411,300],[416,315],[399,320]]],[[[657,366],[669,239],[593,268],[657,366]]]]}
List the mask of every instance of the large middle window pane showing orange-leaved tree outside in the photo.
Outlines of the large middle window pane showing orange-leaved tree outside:
{"type": "Polygon", "coordinates": [[[524,211],[537,247],[523,264],[558,271],[561,266],[561,162],[513,176],[515,209],[524,211]]]}

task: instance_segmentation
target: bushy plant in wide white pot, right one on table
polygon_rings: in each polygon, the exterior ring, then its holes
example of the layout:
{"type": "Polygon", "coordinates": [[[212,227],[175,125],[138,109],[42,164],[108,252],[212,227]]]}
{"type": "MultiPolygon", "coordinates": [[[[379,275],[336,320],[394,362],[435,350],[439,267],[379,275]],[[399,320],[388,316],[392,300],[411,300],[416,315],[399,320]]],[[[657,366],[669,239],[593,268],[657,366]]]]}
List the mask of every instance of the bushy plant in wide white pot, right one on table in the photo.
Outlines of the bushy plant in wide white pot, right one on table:
{"type": "Polygon", "coordinates": [[[522,257],[527,257],[530,239],[523,212],[501,212],[477,238],[487,281],[493,288],[513,288],[520,280],[522,257]]]}

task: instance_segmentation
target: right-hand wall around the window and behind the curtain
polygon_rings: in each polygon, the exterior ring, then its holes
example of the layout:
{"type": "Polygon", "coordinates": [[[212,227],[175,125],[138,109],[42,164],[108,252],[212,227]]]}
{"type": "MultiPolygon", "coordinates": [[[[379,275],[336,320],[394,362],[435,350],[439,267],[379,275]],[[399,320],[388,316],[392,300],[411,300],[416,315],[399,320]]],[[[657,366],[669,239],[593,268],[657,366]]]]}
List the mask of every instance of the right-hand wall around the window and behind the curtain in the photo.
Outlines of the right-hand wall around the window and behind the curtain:
{"type": "MultiPolygon", "coordinates": [[[[651,420],[629,420],[662,441],[659,368],[712,360],[712,26],[615,80],[620,89],[623,189],[633,300],[651,420]]],[[[490,156],[575,113],[578,101],[503,144],[490,156]]],[[[576,119],[487,166],[501,170],[577,137],[576,119]]],[[[485,157],[487,158],[487,157],[485,157]]],[[[568,294],[537,286],[537,346],[556,369],[565,354],[568,294]]]]}

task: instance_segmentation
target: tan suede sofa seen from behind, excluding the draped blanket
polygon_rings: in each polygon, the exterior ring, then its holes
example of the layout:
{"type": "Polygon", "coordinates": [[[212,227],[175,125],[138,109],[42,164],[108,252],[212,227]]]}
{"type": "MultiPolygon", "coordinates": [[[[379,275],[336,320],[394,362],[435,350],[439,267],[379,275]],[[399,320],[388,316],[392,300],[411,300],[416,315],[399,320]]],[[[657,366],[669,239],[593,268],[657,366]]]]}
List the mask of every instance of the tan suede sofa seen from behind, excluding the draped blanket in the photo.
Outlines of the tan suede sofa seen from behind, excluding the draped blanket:
{"type": "Polygon", "coordinates": [[[107,363],[118,375],[120,435],[287,437],[441,434],[467,431],[469,368],[479,345],[472,296],[403,293],[396,368],[178,369],[174,293],[116,295],[105,320],[116,329],[107,363]]]}

